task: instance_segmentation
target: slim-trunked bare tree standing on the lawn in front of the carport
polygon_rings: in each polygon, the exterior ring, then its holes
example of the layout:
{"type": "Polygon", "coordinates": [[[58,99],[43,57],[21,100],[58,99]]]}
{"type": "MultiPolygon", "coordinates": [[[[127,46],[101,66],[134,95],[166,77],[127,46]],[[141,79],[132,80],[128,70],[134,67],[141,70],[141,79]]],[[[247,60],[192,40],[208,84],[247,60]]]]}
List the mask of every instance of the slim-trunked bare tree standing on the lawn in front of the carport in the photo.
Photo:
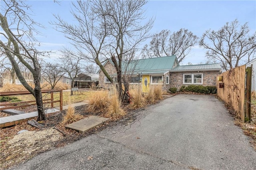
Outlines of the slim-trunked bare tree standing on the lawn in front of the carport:
{"type": "MultiPolygon", "coordinates": [[[[75,53],[70,49],[61,50],[62,56],[58,59],[60,61],[60,69],[68,74],[71,79],[71,88],[74,87],[74,80],[78,74],[82,72],[82,55],[81,53],[75,53]]],[[[73,95],[71,90],[70,95],[73,95]]]]}

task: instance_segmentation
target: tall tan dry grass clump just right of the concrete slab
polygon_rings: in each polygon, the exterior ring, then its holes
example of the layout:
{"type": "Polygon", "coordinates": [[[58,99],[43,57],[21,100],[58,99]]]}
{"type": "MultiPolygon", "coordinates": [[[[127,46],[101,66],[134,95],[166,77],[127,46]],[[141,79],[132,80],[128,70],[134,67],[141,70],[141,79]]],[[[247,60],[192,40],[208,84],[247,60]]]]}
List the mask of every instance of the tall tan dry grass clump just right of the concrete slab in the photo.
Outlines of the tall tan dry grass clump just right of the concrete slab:
{"type": "Polygon", "coordinates": [[[113,93],[110,98],[110,105],[108,106],[106,117],[118,119],[119,117],[126,115],[126,112],[121,108],[121,101],[118,99],[118,92],[115,87],[113,87],[113,93]]]}

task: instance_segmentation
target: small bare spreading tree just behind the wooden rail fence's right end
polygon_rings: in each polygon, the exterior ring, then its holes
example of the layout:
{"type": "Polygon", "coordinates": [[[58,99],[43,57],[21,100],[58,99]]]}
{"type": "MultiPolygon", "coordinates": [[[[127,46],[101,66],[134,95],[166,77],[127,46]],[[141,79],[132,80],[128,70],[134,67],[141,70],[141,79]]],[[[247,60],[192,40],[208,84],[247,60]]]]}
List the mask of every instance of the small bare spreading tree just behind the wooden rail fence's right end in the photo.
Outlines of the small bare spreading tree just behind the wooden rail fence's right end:
{"type": "Polygon", "coordinates": [[[54,89],[64,73],[58,63],[46,62],[42,65],[42,78],[50,84],[51,89],[54,89]]]}

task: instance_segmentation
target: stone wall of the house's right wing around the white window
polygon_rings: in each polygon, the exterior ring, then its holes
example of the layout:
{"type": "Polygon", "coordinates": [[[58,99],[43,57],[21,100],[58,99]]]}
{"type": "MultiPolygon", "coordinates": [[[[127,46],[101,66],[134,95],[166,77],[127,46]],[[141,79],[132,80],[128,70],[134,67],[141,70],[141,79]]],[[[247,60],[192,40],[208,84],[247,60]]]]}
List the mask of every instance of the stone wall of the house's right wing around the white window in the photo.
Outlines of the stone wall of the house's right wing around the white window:
{"type": "Polygon", "coordinates": [[[180,87],[183,84],[183,74],[203,74],[203,86],[207,85],[216,85],[216,76],[219,74],[219,71],[184,71],[184,72],[171,72],[170,73],[170,87],[177,87],[180,89],[180,87]]]}

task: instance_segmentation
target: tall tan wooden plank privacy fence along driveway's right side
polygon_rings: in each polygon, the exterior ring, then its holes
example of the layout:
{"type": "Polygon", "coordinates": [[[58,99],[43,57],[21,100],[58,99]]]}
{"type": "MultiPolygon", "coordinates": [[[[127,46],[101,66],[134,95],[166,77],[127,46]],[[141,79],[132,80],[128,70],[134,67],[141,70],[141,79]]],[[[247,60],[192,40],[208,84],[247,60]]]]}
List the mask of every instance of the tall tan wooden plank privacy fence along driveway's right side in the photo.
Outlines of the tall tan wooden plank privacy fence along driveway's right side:
{"type": "Polygon", "coordinates": [[[252,67],[242,65],[217,77],[217,94],[232,107],[241,121],[250,121],[252,67]]]}

